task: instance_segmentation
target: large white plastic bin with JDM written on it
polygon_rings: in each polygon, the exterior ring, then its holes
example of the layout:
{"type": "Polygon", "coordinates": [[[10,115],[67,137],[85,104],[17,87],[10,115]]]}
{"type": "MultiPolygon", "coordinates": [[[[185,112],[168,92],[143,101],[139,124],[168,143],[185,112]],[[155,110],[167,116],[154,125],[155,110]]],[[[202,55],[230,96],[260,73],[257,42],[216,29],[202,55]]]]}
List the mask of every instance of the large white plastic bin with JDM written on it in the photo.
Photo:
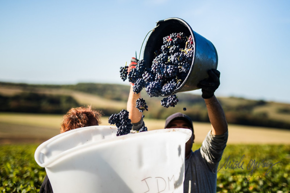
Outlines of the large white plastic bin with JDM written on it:
{"type": "Polygon", "coordinates": [[[116,136],[116,127],[90,126],[39,145],[58,192],[183,192],[184,149],[191,130],[160,129],[116,136]]]}

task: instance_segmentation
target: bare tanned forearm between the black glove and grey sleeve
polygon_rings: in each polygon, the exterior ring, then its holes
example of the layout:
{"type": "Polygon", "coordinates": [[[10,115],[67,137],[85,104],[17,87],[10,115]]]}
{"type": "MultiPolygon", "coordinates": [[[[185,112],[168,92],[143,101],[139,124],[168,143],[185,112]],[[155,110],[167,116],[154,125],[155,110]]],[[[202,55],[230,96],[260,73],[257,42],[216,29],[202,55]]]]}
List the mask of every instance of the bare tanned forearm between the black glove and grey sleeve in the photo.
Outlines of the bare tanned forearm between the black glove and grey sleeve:
{"type": "Polygon", "coordinates": [[[214,135],[224,134],[228,130],[228,123],[226,122],[224,110],[222,109],[220,102],[215,96],[209,99],[204,99],[204,101],[211,122],[211,133],[214,135]]]}

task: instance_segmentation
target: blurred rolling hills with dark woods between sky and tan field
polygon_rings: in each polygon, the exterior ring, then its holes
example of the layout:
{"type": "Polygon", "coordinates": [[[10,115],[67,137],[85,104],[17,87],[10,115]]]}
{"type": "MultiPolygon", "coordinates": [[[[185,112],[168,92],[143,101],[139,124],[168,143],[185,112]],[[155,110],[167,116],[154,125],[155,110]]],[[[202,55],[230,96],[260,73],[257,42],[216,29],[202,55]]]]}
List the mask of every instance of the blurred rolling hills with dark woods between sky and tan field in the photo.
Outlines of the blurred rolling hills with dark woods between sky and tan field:
{"type": "MultiPolygon", "coordinates": [[[[33,85],[0,83],[1,112],[64,114],[69,108],[92,105],[105,116],[126,109],[129,85],[78,83],[75,85],[33,85]]],[[[160,105],[162,97],[149,97],[146,118],[164,119],[174,112],[184,112],[193,121],[208,122],[204,100],[199,95],[177,93],[175,108],[160,105]],[[183,111],[183,108],[186,111],[183,111]]],[[[229,123],[290,129],[290,104],[236,97],[218,97],[229,123]]]]}

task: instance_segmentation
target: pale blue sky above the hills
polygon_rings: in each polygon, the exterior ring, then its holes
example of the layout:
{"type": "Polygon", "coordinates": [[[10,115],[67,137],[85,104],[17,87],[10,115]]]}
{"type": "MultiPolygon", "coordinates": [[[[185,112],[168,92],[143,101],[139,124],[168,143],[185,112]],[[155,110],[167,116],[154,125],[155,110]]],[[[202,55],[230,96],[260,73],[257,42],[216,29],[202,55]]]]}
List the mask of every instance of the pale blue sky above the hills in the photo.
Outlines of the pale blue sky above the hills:
{"type": "Polygon", "coordinates": [[[217,49],[217,96],[290,103],[289,8],[288,0],[0,1],[0,81],[128,84],[119,67],[157,21],[179,17],[217,49]]]}

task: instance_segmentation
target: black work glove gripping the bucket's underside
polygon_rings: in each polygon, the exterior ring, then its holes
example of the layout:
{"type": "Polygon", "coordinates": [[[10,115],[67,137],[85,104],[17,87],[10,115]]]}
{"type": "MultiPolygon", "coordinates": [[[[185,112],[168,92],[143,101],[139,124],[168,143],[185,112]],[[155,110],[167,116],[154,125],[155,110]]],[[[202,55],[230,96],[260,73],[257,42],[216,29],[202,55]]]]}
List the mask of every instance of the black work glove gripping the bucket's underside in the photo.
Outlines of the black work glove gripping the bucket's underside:
{"type": "Polygon", "coordinates": [[[201,88],[202,98],[204,99],[211,98],[220,85],[220,71],[211,69],[208,70],[207,73],[209,77],[201,80],[197,84],[197,87],[201,88]]]}

